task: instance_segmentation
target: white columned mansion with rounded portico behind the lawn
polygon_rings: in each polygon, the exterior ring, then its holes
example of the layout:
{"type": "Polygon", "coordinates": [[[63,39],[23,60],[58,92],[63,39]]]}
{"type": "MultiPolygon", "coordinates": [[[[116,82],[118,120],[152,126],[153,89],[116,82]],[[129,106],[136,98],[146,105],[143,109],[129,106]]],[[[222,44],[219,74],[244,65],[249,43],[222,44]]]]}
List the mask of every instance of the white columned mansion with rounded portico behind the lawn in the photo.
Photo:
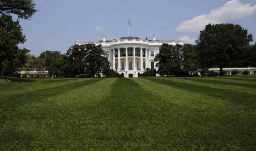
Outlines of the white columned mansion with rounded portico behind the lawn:
{"type": "Polygon", "coordinates": [[[159,53],[159,47],[163,43],[170,45],[184,45],[179,41],[156,40],[153,35],[151,40],[140,39],[139,37],[121,37],[113,40],[106,40],[103,36],[102,41],[97,42],[79,42],[75,44],[101,44],[102,49],[108,57],[111,69],[114,69],[124,77],[138,77],[138,74],[144,73],[146,68],[156,69],[154,58],[159,53]]]}

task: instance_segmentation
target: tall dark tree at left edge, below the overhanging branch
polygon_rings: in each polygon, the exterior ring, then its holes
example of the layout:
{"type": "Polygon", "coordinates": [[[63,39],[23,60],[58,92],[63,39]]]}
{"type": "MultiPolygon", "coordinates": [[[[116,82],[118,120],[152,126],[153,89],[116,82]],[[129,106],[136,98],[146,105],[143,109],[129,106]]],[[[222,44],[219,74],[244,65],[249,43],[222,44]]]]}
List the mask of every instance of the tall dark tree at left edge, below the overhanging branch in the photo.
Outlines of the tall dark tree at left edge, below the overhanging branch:
{"type": "Polygon", "coordinates": [[[28,53],[29,50],[19,49],[18,44],[24,43],[25,40],[19,21],[14,22],[11,16],[0,16],[0,70],[2,75],[22,63],[24,59],[22,55],[28,53]]]}

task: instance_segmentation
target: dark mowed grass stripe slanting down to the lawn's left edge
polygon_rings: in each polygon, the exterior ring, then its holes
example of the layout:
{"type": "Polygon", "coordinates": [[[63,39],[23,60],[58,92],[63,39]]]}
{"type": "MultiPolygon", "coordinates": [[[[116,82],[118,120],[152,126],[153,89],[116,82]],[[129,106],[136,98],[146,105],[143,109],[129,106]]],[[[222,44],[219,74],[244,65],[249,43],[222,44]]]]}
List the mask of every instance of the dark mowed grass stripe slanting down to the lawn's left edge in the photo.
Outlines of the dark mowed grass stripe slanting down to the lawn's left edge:
{"type": "MultiPolygon", "coordinates": [[[[78,89],[83,86],[88,86],[96,82],[100,82],[103,79],[88,79],[88,80],[79,80],[78,82],[71,84],[59,85],[51,88],[40,89],[32,92],[25,92],[23,94],[12,95],[4,97],[0,101],[1,108],[17,108],[23,106],[23,104],[28,102],[45,102],[48,97],[65,94],[68,91],[73,89],[78,89]]],[[[63,80],[65,81],[65,80],[63,80]]],[[[54,83],[55,81],[51,81],[54,83]]],[[[43,87],[43,85],[42,85],[43,87]]]]}

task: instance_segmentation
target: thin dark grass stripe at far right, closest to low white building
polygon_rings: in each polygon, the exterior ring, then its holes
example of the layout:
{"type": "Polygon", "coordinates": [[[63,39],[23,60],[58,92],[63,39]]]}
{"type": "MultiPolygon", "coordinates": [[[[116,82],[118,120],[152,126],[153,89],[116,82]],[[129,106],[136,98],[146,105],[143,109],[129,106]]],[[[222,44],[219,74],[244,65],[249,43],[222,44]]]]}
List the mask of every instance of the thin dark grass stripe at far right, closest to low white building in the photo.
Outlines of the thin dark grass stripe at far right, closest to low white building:
{"type": "MultiPolygon", "coordinates": [[[[240,86],[240,87],[246,87],[246,88],[250,88],[250,89],[256,89],[256,84],[254,84],[254,83],[246,84],[246,83],[227,82],[227,81],[223,81],[223,80],[221,80],[221,81],[220,80],[213,80],[213,79],[208,79],[208,78],[204,78],[204,77],[201,77],[201,78],[179,78],[179,79],[189,80],[189,81],[192,81],[192,82],[203,82],[203,83],[208,83],[208,84],[231,85],[231,86],[240,86]]],[[[230,79],[230,78],[228,78],[228,79],[230,79]]]]}

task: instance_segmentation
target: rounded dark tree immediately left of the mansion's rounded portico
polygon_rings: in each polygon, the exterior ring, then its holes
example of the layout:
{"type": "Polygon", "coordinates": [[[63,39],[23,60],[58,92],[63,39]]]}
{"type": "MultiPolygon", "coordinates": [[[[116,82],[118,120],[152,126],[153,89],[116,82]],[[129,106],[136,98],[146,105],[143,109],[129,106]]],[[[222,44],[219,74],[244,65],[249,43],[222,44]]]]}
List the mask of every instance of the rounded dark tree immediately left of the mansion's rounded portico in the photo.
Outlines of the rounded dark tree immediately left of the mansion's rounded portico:
{"type": "Polygon", "coordinates": [[[86,72],[93,77],[110,68],[110,63],[105,57],[101,45],[75,44],[69,48],[67,55],[72,68],[72,75],[86,72]]]}

